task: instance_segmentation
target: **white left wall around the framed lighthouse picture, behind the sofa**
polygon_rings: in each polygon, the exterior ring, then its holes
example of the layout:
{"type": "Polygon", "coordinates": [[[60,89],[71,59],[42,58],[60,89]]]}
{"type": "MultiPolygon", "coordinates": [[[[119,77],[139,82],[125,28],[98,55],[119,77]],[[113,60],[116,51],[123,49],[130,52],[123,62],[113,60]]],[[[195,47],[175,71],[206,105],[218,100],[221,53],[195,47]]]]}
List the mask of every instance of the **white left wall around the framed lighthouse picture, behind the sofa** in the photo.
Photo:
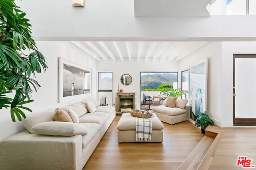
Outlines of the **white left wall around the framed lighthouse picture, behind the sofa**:
{"type": "MultiPolygon", "coordinates": [[[[92,96],[96,98],[96,61],[91,61],[70,48],[63,42],[36,42],[38,50],[47,58],[48,69],[45,73],[36,74],[36,80],[41,85],[38,92],[32,93],[34,102],[24,106],[32,109],[33,112],[55,109],[56,107],[68,106],[84,99],[76,99],[70,102],[58,103],[58,57],[83,65],[92,69],[92,96]]],[[[33,90],[34,91],[34,90],[33,90]]],[[[25,114],[31,114],[25,111],[25,114]]],[[[21,122],[16,119],[13,123],[9,109],[0,109],[0,141],[25,130],[21,122]]]]}

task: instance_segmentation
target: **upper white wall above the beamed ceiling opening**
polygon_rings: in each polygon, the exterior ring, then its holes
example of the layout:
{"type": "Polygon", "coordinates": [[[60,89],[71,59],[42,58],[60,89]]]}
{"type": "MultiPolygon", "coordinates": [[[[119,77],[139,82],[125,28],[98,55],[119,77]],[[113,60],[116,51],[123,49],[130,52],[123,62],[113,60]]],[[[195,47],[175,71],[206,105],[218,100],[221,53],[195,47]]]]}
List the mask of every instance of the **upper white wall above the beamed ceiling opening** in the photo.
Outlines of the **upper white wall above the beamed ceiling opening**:
{"type": "Polygon", "coordinates": [[[139,38],[234,41],[236,37],[237,41],[250,41],[256,37],[256,25],[252,22],[256,20],[255,15],[134,17],[134,0],[85,0],[84,8],[73,8],[72,0],[15,2],[30,19],[36,40],[90,41],[94,37],[128,37],[133,41],[139,38]]]}

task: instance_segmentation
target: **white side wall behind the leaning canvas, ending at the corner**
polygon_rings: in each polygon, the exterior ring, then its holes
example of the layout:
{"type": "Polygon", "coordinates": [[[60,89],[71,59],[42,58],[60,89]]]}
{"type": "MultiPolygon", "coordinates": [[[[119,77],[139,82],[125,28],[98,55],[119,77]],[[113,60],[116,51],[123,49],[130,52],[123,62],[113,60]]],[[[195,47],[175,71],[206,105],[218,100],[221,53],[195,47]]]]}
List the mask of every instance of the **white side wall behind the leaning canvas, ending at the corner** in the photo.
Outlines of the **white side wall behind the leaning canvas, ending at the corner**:
{"type": "Polygon", "coordinates": [[[221,43],[211,42],[180,60],[180,71],[188,69],[202,59],[208,58],[207,106],[208,115],[216,125],[222,121],[221,112],[221,43]]]}

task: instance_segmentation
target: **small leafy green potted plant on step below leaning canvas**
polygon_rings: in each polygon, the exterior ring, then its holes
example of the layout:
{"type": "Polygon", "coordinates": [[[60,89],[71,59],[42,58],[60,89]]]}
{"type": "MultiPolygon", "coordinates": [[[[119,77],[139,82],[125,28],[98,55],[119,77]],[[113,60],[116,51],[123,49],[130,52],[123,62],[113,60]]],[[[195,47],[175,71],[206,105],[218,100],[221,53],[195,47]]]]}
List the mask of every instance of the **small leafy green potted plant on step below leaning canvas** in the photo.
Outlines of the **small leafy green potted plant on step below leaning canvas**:
{"type": "Polygon", "coordinates": [[[209,125],[214,125],[214,122],[210,117],[207,115],[206,111],[204,113],[200,113],[199,116],[196,118],[195,125],[197,127],[201,127],[201,131],[205,134],[205,129],[209,125]]]}

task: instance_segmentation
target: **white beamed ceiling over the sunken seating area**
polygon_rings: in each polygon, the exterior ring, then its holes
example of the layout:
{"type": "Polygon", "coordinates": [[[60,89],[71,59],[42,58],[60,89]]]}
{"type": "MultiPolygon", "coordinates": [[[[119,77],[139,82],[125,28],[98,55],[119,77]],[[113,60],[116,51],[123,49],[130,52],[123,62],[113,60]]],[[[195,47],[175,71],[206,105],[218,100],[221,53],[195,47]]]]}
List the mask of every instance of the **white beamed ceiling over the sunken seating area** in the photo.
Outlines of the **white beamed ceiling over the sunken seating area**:
{"type": "Polygon", "coordinates": [[[179,61],[208,42],[72,41],[74,48],[97,61],[179,61]]]}

